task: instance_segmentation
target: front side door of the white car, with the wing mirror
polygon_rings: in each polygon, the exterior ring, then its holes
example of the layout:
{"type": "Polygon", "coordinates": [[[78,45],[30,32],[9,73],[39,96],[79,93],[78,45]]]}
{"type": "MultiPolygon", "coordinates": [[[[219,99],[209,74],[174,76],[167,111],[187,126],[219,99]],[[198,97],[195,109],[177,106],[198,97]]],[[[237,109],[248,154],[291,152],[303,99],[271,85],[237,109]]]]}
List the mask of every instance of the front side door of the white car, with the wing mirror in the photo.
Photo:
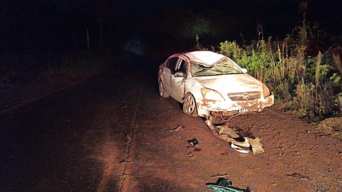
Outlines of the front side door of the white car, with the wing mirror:
{"type": "Polygon", "coordinates": [[[175,77],[174,74],[171,74],[171,94],[177,101],[182,102],[184,97],[184,81],[187,75],[185,60],[179,58],[175,72],[183,72],[184,75],[182,77],[175,77]]]}

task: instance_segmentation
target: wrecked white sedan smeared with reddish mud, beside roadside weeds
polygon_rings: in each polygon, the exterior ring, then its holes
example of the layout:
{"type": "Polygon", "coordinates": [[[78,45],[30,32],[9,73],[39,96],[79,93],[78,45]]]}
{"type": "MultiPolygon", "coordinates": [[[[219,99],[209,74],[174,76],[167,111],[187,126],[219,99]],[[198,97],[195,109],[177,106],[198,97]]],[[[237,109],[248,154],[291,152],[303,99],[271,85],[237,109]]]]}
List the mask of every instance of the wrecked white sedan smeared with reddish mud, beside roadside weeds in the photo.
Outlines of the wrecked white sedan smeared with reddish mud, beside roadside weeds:
{"type": "Polygon", "coordinates": [[[230,116],[274,104],[267,86],[230,58],[210,51],[174,54],[159,67],[159,94],[183,103],[187,115],[230,116]]]}

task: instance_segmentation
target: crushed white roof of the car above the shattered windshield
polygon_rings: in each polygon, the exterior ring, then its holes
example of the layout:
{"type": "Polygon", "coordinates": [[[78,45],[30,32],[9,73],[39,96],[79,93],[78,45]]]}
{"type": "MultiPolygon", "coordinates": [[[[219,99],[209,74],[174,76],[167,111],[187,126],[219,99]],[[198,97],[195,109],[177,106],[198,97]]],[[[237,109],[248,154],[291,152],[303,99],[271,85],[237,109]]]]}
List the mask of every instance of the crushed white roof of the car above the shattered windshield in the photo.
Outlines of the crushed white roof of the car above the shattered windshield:
{"type": "Polygon", "coordinates": [[[224,55],[214,53],[211,51],[194,51],[194,52],[187,52],[187,53],[182,53],[182,54],[189,57],[191,61],[204,63],[207,65],[212,65],[219,59],[225,57],[224,55]]]}

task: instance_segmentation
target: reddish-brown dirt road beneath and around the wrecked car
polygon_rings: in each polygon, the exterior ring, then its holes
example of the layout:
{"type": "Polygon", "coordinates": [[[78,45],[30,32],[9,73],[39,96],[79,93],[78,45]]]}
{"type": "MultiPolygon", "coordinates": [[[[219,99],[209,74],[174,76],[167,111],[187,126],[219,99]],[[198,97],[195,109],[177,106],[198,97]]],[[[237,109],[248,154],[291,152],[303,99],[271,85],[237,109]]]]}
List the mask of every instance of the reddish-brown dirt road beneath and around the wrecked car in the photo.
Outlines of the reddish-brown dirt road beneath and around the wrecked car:
{"type": "Polygon", "coordinates": [[[238,153],[159,97],[161,61],[116,62],[124,67],[1,115],[0,191],[209,192],[218,174],[245,192],[342,191],[338,135],[271,107],[228,122],[262,138],[265,153],[238,153]],[[185,128],[168,131],[177,125],[185,128]],[[190,158],[193,138],[202,151],[190,158]]]}

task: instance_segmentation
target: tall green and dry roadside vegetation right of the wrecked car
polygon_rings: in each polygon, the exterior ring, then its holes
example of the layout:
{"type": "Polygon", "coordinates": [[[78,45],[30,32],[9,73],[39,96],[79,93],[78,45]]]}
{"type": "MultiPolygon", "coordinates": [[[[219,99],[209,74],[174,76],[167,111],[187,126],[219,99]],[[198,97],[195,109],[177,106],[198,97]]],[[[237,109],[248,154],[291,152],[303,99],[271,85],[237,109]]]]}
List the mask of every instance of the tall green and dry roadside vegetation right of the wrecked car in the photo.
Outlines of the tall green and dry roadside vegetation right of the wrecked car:
{"type": "MultiPolygon", "coordinates": [[[[285,39],[264,39],[262,25],[258,24],[258,41],[250,45],[225,41],[220,44],[219,53],[266,83],[282,109],[313,122],[330,118],[324,125],[317,125],[341,133],[342,47],[338,40],[341,37],[335,37],[329,47],[324,46],[320,39],[324,31],[319,30],[317,23],[310,25],[305,18],[306,5],[300,6],[303,13],[300,26],[285,39]]],[[[199,44],[197,47],[202,49],[199,44]]]]}

